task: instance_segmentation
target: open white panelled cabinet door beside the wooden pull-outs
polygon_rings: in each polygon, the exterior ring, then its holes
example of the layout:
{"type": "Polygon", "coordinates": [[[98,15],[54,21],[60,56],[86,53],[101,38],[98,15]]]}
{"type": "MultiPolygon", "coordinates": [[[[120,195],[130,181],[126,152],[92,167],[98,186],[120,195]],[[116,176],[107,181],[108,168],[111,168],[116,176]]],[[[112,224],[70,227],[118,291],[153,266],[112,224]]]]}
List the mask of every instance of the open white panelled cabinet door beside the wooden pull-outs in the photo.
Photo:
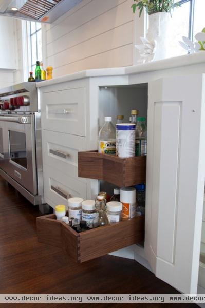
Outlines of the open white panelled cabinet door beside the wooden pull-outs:
{"type": "Polygon", "coordinates": [[[145,253],[156,276],[197,293],[205,175],[203,74],[148,85],[145,253]]]}

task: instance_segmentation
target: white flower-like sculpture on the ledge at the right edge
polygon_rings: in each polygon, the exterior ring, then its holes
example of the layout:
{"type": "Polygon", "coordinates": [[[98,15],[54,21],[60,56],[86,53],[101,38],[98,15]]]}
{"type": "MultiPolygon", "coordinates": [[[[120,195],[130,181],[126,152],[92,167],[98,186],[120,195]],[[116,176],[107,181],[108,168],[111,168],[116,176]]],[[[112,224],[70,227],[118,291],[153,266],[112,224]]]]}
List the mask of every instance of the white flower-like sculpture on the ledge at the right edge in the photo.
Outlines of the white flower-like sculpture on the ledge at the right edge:
{"type": "MultiPolygon", "coordinates": [[[[205,33],[199,32],[195,35],[197,41],[200,41],[203,47],[205,48],[205,33]]],[[[181,47],[190,53],[198,52],[201,50],[201,45],[198,42],[193,43],[188,37],[182,36],[183,42],[179,41],[181,47]]]]}

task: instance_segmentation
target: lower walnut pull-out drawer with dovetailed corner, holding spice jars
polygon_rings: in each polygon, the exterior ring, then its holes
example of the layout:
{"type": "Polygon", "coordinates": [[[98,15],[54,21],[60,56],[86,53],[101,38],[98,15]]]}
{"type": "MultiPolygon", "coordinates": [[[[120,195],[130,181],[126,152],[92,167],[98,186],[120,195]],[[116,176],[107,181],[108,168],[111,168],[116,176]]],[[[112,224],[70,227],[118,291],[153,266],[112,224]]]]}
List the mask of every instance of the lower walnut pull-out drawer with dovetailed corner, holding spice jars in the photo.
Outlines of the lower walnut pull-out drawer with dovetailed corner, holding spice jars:
{"type": "Polygon", "coordinates": [[[85,262],[144,239],[144,217],[77,233],[54,214],[37,218],[39,242],[61,247],[76,262],[85,262]]]}

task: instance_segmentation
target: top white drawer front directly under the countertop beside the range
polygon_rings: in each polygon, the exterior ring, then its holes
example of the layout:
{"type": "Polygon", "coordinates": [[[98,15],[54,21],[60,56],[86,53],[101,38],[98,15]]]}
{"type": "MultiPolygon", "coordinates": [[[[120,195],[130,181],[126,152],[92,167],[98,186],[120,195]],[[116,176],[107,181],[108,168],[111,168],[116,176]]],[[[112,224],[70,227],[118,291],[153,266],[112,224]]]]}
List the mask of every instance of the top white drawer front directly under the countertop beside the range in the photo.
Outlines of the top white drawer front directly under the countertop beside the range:
{"type": "Polygon", "coordinates": [[[42,128],[86,136],[85,88],[41,94],[42,128]]]}

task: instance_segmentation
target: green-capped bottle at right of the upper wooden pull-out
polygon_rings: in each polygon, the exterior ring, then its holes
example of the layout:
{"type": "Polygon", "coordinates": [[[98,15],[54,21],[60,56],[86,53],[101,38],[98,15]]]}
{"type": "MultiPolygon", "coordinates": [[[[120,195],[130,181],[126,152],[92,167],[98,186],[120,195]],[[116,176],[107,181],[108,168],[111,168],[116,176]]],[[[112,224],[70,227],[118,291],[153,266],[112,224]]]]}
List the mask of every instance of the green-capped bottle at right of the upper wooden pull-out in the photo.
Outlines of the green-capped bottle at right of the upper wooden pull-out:
{"type": "Polygon", "coordinates": [[[146,155],[146,118],[137,118],[135,156],[146,155]]]}

